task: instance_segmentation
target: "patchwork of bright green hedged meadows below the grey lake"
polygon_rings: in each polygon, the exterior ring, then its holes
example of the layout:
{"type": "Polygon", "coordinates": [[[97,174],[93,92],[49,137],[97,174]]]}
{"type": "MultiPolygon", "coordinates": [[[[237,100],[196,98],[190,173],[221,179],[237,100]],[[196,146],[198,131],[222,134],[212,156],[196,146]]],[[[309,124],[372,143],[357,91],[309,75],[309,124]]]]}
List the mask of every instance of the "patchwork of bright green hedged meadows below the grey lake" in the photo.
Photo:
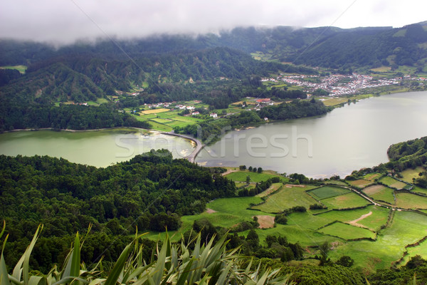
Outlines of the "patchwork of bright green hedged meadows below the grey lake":
{"type": "MultiPolygon", "coordinates": [[[[209,202],[206,212],[181,217],[179,231],[169,232],[173,235],[173,240],[178,240],[181,234],[190,230],[196,219],[208,219],[216,227],[231,228],[240,222],[253,220],[254,216],[274,217],[284,209],[303,206],[307,212],[288,214],[287,224],[256,229],[260,242],[265,242],[268,235],[285,236],[289,242],[300,243],[307,258],[319,254],[317,247],[328,242],[332,261],[348,255],[354,259],[354,267],[359,267],[364,272],[389,268],[406,251],[408,256],[401,264],[416,254],[427,258],[427,242],[405,249],[406,245],[414,244],[427,235],[427,197],[396,191],[384,185],[371,185],[379,179],[384,184],[396,185],[399,181],[392,177],[372,173],[363,177],[363,183],[357,182],[357,185],[367,185],[362,190],[365,195],[376,201],[387,202],[379,202],[383,204],[379,206],[338,185],[288,185],[285,181],[287,178],[275,172],[255,173],[238,170],[238,167],[226,168],[226,177],[234,181],[246,181],[247,175],[253,180],[249,186],[246,183],[238,183],[238,186],[253,187],[254,182],[274,176],[281,177],[283,182],[274,183],[255,197],[223,198],[209,202]],[[423,210],[426,214],[390,209],[390,205],[394,204],[393,193],[397,198],[394,207],[426,209],[423,210]],[[310,205],[319,204],[317,201],[327,209],[309,209],[310,205]]],[[[344,185],[342,182],[342,186],[344,185]]],[[[419,187],[414,190],[427,193],[427,190],[419,187]]],[[[248,230],[238,234],[246,236],[248,230]]],[[[164,237],[164,233],[152,232],[147,237],[157,239],[164,237]]]]}

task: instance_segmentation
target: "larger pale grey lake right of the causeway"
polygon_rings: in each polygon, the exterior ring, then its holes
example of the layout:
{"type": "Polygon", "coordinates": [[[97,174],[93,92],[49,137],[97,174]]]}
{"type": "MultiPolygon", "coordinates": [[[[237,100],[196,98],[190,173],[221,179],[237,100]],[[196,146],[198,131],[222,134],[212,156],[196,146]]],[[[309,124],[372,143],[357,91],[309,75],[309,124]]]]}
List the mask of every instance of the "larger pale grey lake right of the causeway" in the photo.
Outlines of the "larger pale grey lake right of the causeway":
{"type": "Polygon", "coordinates": [[[427,92],[396,93],[344,105],[317,118],[227,133],[202,150],[196,162],[309,177],[345,176],[388,162],[391,144],[426,135],[427,92]]]}

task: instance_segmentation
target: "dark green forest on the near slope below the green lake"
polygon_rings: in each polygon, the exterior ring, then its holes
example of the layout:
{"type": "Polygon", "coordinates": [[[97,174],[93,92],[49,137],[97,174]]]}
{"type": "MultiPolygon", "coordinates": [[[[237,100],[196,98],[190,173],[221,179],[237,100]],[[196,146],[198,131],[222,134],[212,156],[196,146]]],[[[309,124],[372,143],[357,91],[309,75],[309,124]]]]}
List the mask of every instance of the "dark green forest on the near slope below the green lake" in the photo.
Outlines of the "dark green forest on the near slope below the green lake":
{"type": "MultiPolygon", "coordinates": [[[[0,217],[9,233],[5,256],[17,261],[16,250],[44,224],[40,266],[58,261],[75,232],[93,224],[90,259],[115,256],[108,240],[127,234],[178,229],[182,215],[203,212],[206,202],[231,197],[231,180],[186,160],[172,160],[167,150],[138,155],[106,168],[78,165],[53,157],[0,156],[0,217]],[[95,242],[97,239],[102,242],[95,242]],[[56,246],[54,245],[56,244],[56,246]]],[[[25,246],[26,247],[26,246],[25,246]]],[[[121,249],[120,249],[121,250],[121,249]]]]}

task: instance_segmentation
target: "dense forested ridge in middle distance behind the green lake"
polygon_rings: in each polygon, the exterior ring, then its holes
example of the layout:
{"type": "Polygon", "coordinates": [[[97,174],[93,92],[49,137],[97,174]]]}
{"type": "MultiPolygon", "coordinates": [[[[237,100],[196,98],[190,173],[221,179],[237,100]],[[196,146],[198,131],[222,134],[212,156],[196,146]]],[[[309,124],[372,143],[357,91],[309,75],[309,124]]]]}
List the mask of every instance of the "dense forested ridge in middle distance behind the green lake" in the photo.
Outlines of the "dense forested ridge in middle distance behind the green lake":
{"type": "Polygon", "coordinates": [[[285,69],[280,63],[255,61],[247,53],[230,48],[180,51],[135,59],[69,55],[32,63],[25,75],[0,90],[2,96],[14,95],[25,103],[41,99],[50,103],[68,100],[78,103],[116,95],[116,90],[127,92],[132,90],[132,85],[143,86],[147,82],[146,93],[167,93],[169,100],[183,100],[197,98],[198,94],[182,84],[176,87],[174,83],[184,83],[190,78],[192,81],[246,80],[254,75],[268,76],[280,69],[285,69]],[[169,86],[162,83],[169,83],[169,86]],[[181,92],[171,88],[181,88],[181,92]]]}

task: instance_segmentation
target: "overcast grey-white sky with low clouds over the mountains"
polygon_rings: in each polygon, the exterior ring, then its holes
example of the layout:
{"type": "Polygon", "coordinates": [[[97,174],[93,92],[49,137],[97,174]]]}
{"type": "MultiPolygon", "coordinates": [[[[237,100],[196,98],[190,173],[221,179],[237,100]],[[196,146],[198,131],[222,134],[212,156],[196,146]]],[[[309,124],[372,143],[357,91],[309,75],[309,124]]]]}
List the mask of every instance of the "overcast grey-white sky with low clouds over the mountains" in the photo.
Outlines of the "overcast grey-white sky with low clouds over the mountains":
{"type": "Polygon", "coordinates": [[[71,43],[235,26],[401,27],[426,21],[426,11],[425,0],[0,0],[0,38],[71,43]]]}

